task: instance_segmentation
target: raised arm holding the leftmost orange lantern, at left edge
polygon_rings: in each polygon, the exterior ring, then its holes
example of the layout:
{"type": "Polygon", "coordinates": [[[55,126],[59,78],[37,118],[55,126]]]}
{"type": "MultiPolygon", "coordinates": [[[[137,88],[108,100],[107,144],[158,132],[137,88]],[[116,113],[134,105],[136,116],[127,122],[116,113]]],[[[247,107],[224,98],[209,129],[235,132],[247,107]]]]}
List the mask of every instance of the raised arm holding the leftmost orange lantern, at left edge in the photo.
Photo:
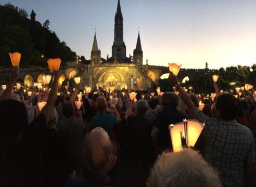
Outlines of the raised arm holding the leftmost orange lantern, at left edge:
{"type": "Polygon", "coordinates": [[[19,73],[17,69],[11,70],[10,81],[6,86],[6,90],[3,92],[2,96],[0,97],[0,101],[5,99],[11,99],[12,90],[14,89],[14,85],[15,85],[15,82],[17,81],[18,76],[19,76],[19,73]]]}

